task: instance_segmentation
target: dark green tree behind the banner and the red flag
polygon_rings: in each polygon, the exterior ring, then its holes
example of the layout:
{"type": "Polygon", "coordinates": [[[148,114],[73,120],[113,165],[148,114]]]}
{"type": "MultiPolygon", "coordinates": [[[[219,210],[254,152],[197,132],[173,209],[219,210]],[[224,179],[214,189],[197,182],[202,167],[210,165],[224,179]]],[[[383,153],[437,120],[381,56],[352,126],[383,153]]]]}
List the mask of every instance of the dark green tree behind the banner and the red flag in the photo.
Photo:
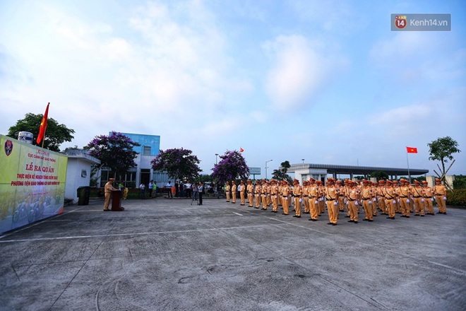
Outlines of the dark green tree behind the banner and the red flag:
{"type": "MultiPolygon", "coordinates": [[[[32,144],[37,146],[36,139],[39,134],[42,117],[44,117],[44,115],[34,115],[33,113],[26,114],[24,119],[18,120],[13,127],[8,129],[8,134],[6,134],[6,136],[18,139],[18,133],[20,131],[29,131],[34,135],[32,144]]],[[[61,143],[71,141],[74,138],[72,134],[74,134],[73,129],[68,129],[66,125],[59,124],[55,119],[49,117],[47,119],[47,130],[44,136],[44,148],[59,152],[61,143]]],[[[42,142],[40,146],[42,146],[42,142]]]]}

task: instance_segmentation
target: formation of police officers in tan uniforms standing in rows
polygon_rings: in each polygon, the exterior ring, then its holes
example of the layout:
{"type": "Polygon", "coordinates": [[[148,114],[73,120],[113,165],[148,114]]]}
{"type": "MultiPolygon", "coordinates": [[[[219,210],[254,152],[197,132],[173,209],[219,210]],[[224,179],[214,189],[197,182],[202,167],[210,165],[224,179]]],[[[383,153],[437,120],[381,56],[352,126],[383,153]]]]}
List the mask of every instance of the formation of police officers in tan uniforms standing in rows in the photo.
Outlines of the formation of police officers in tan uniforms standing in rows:
{"type": "Polygon", "coordinates": [[[414,180],[410,184],[407,180],[380,180],[371,182],[362,180],[335,180],[328,178],[325,186],[321,180],[305,180],[303,185],[298,180],[289,184],[286,180],[258,180],[253,184],[241,180],[237,185],[232,181],[225,185],[227,202],[236,204],[237,193],[241,205],[246,204],[255,209],[266,211],[271,206],[271,212],[277,213],[278,206],[282,206],[282,215],[289,215],[293,209],[294,216],[301,218],[301,213],[309,214],[309,221],[318,221],[318,216],[328,211],[328,225],[337,225],[338,213],[346,213],[349,223],[358,223],[359,211],[364,211],[363,221],[374,221],[378,212],[395,219],[395,214],[410,218],[414,216],[434,216],[434,200],[438,212],[446,214],[446,187],[441,180],[436,179],[434,187],[429,187],[426,181],[414,180]],[[302,211],[304,209],[304,211],[302,211]]]}

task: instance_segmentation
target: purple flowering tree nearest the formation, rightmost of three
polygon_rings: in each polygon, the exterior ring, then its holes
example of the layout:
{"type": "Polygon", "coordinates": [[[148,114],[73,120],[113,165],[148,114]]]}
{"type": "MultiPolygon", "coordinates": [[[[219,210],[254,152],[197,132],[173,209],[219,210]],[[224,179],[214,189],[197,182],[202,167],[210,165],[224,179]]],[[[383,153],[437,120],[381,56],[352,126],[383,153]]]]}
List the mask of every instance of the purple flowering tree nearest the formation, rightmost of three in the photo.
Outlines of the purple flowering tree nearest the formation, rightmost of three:
{"type": "Polygon", "coordinates": [[[220,162],[214,166],[212,177],[220,184],[237,178],[246,180],[249,177],[249,167],[239,151],[226,151],[224,155],[220,155],[220,162]]]}

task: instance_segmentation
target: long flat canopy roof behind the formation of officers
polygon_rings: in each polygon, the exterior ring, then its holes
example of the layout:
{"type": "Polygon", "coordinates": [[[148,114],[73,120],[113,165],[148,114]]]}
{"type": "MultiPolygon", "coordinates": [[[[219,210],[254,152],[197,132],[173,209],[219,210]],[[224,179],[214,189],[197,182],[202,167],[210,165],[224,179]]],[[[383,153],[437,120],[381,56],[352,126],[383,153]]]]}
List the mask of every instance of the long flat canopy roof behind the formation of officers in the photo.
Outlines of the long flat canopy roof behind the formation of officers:
{"type": "MultiPolygon", "coordinates": [[[[370,175],[372,172],[383,171],[388,175],[408,175],[407,168],[379,168],[376,166],[358,166],[358,165],[330,165],[330,164],[309,164],[299,163],[292,164],[288,172],[295,172],[296,170],[308,169],[323,169],[327,170],[328,174],[353,174],[353,175],[370,175]]],[[[429,170],[421,170],[417,168],[410,168],[410,175],[424,175],[429,170]]]]}

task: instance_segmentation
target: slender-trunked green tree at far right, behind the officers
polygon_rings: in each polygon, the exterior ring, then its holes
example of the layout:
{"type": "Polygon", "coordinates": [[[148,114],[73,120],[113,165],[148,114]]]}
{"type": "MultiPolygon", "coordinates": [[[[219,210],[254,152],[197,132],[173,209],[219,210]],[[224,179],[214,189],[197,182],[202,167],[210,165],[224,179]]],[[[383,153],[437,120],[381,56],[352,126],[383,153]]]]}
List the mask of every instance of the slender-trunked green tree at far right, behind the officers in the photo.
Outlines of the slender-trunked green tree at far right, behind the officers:
{"type": "Polygon", "coordinates": [[[445,180],[446,173],[450,170],[451,165],[455,163],[455,160],[453,160],[453,153],[461,152],[460,149],[458,149],[458,142],[451,139],[450,136],[446,136],[436,139],[427,145],[429,146],[429,153],[431,155],[429,160],[439,160],[442,165],[441,167],[437,165],[440,173],[436,172],[436,170],[434,170],[434,172],[441,180],[445,180]],[[446,169],[445,163],[448,163],[448,160],[453,160],[453,162],[446,169]]]}

